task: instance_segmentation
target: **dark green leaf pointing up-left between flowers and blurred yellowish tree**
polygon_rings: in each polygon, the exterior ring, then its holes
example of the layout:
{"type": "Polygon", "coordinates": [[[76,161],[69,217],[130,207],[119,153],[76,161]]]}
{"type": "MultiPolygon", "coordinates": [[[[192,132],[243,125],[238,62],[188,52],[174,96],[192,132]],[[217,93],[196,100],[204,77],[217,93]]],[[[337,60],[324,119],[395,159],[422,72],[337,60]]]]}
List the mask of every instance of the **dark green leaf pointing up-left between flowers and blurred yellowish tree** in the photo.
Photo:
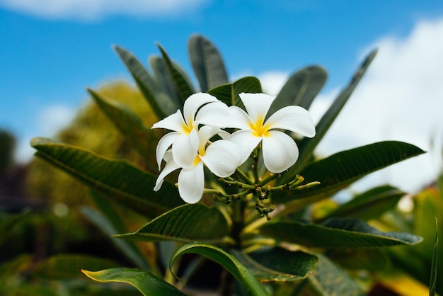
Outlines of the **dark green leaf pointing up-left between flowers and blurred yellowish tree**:
{"type": "Polygon", "coordinates": [[[88,89],[88,92],[91,93],[92,98],[96,101],[100,110],[105,113],[122,136],[125,137],[139,155],[142,156],[149,171],[157,171],[156,164],[151,161],[152,157],[149,157],[149,152],[152,152],[152,155],[154,155],[156,149],[156,142],[153,141],[156,139],[154,130],[146,128],[142,120],[121,103],[107,100],[91,89],[88,89]]]}

